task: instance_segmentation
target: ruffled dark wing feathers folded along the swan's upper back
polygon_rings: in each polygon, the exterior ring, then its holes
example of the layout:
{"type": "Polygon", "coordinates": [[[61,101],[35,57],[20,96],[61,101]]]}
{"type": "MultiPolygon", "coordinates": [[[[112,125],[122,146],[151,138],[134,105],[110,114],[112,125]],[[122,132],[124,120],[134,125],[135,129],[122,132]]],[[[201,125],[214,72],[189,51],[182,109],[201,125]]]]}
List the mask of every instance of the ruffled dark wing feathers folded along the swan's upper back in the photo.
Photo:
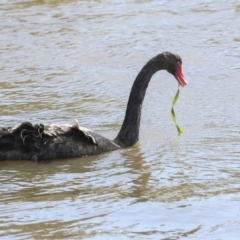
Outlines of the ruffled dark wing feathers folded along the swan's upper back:
{"type": "Polygon", "coordinates": [[[36,124],[23,122],[14,127],[0,128],[0,150],[19,149],[29,152],[34,148],[41,148],[52,142],[53,139],[74,138],[75,141],[98,144],[93,132],[78,125],[77,120],[73,124],[36,124]]]}

